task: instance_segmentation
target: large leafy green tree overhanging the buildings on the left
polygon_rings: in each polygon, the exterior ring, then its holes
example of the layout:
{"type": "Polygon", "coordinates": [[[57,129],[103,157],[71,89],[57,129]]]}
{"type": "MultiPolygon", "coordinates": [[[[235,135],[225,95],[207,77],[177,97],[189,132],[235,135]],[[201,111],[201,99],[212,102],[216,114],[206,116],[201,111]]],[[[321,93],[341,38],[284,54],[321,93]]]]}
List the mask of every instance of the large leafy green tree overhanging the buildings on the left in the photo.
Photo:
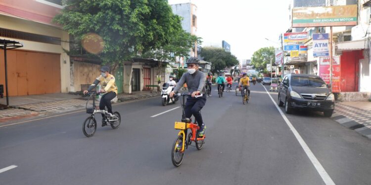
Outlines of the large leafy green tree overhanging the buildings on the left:
{"type": "Polygon", "coordinates": [[[101,37],[97,57],[117,66],[147,51],[156,51],[180,33],[181,18],[167,0],[65,0],[54,21],[77,40],[88,33],[101,37]]]}

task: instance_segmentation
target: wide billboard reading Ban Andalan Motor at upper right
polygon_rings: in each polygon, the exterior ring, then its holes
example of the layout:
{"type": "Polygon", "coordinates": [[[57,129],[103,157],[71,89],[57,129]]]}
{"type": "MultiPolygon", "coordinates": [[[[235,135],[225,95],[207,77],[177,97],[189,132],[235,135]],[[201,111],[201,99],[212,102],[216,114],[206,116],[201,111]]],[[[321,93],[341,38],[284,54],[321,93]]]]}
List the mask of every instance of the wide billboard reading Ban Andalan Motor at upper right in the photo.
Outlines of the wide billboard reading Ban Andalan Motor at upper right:
{"type": "Polygon", "coordinates": [[[292,28],[356,26],[357,15],[357,4],[296,7],[292,9],[292,28]]]}

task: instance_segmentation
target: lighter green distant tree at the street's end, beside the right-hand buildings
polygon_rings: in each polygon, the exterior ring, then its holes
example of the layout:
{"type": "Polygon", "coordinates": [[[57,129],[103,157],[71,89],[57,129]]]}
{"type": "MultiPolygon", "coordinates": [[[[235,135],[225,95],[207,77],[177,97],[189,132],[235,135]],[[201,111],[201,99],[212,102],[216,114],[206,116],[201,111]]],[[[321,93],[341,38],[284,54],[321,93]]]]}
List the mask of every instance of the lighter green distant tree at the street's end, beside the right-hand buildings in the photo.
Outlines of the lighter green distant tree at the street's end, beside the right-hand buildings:
{"type": "Polygon", "coordinates": [[[275,48],[274,47],[263,47],[255,51],[251,58],[251,65],[257,71],[266,70],[267,64],[275,63],[275,48]]]}

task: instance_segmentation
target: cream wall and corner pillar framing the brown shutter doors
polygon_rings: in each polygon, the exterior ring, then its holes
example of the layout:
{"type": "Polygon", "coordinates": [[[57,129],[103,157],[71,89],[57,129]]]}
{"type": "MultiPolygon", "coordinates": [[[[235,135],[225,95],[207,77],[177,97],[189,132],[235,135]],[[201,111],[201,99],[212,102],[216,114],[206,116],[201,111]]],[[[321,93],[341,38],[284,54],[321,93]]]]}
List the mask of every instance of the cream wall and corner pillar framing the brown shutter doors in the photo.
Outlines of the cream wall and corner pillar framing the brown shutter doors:
{"type": "Polygon", "coordinates": [[[18,19],[10,16],[0,15],[0,25],[2,28],[28,32],[33,34],[40,34],[50,37],[58,37],[62,40],[60,45],[48,44],[42,42],[33,42],[28,40],[14,39],[0,37],[3,39],[16,40],[23,43],[20,50],[40,51],[60,54],[60,69],[61,69],[61,92],[68,92],[71,90],[70,86],[70,58],[63,51],[69,50],[69,35],[60,28],[48,26],[45,24],[18,19]]]}

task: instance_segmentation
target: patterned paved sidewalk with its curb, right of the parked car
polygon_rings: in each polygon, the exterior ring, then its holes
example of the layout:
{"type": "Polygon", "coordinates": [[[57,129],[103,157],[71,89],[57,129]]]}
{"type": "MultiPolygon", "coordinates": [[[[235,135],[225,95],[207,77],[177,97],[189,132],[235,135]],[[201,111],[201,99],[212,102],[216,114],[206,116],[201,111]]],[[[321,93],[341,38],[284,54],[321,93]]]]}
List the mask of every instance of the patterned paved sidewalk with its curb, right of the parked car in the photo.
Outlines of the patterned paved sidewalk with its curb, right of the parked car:
{"type": "Polygon", "coordinates": [[[371,102],[336,103],[331,118],[371,139],[371,102]]]}

